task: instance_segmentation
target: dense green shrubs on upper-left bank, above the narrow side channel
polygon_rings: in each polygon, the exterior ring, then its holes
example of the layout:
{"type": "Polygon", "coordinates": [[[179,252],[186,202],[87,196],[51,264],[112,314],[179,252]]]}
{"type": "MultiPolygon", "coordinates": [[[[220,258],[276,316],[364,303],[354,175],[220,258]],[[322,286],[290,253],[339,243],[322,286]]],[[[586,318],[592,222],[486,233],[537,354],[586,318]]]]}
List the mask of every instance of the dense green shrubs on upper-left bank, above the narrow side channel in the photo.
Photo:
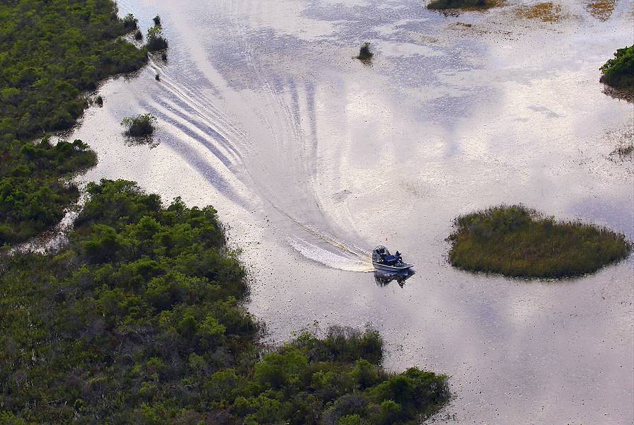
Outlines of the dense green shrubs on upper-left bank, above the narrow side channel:
{"type": "Polygon", "coordinates": [[[0,245],[53,226],[76,201],[77,188],[59,178],[94,163],[93,153],[31,140],[71,127],[88,104],[81,91],[146,62],[120,38],[135,28],[110,0],[0,2],[0,245]]]}

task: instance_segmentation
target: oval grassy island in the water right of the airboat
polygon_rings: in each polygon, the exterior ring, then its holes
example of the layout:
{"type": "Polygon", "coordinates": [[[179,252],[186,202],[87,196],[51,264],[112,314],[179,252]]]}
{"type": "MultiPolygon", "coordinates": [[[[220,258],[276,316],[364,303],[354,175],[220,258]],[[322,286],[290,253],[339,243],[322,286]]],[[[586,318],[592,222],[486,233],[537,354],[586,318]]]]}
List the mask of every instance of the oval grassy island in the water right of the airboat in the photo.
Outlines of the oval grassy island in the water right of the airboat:
{"type": "Polygon", "coordinates": [[[524,206],[495,206],[461,216],[449,239],[454,266],[507,276],[577,276],[621,260],[631,250],[621,234],[556,222],[524,206]]]}

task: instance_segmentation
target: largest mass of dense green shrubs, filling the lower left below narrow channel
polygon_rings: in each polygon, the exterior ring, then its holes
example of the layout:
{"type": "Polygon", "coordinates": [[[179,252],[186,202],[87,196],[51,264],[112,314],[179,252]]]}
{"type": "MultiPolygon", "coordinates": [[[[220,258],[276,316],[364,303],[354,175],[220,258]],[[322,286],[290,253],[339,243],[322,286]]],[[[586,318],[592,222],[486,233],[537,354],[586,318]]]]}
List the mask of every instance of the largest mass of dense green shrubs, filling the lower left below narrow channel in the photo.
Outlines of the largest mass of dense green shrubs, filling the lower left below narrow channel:
{"type": "Polygon", "coordinates": [[[88,193],[61,252],[0,263],[2,423],[415,424],[446,400],[442,375],[386,373],[373,331],[258,347],[211,207],[88,193]]]}

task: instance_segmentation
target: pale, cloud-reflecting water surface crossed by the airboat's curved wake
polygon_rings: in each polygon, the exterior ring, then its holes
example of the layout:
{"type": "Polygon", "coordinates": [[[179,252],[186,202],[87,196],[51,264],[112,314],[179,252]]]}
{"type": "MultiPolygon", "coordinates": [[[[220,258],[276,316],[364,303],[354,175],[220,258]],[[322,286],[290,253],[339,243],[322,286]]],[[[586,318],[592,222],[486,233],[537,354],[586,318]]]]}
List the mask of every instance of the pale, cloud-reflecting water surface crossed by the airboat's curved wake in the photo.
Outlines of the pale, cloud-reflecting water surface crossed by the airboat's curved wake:
{"type": "Polygon", "coordinates": [[[633,161],[611,156],[633,105],[598,83],[633,43],[633,2],[599,3],[551,19],[517,1],[457,16],[414,0],[120,1],[143,24],[161,15],[168,61],[100,89],[73,134],[99,155],[81,179],[213,204],[272,341],[376,327],[389,368],[452,376],[434,423],[631,424],[631,257],[564,281],[446,262],[454,217],[502,202],[634,238],[633,161]],[[364,41],[371,66],[352,59],[364,41]],[[148,111],[159,144],[130,144],[120,120],[148,111]],[[416,274],[364,273],[379,243],[416,274]]]}

